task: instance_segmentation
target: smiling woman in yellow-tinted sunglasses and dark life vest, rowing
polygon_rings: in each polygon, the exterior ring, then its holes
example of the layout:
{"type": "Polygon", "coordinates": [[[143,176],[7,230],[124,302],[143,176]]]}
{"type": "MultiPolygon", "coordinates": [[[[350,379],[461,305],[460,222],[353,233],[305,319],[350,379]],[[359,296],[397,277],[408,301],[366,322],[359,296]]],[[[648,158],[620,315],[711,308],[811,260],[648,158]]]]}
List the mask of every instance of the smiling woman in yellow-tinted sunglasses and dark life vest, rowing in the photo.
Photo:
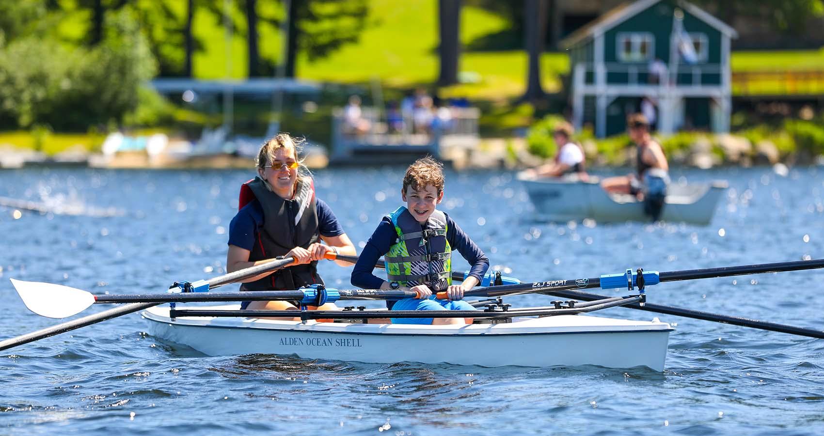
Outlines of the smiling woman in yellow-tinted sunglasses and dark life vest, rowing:
{"type": "MultiPolygon", "coordinates": [[[[323,284],[317,261],[327,252],[356,254],[328,204],[297,158],[300,143],[289,134],[266,141],[256,159],[257,176],[241,185],[240,209],[229,224],[226,266],[231,273],[272,259],[293,257],[292,266],[243,280],[241,291],[289,290],[323,284]]],[[[338,262],[341,266],[348,266],[338,262]]],[[[298,302],[243,302],[242,309],[297,310],[298,302]]],[[[322,310],[335,310],[326,303],[322,310]]]]}

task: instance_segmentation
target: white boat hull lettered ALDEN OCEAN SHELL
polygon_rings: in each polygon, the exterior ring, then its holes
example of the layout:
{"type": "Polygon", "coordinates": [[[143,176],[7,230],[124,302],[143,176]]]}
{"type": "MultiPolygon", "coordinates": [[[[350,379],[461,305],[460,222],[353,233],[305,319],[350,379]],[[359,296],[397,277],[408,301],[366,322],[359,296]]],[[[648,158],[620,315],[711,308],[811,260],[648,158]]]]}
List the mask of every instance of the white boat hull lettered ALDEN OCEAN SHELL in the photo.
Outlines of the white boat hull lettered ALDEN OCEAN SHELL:
{"type": "MultiPolygon", "coordinates": [[[[205,307],[203,307],[205,309],[205,307]]],[[[237,305],[208,307],[236,310],[237,305]]],[[[483,367],[646,366],[663,371],[666,322],[585,315],[516,317],[512,322],[447,326],[275,321],[180,316],[167,305],[141,312],[162,340],[208,355],[281,354],[364,363],[456,363],[483,367]]]]}

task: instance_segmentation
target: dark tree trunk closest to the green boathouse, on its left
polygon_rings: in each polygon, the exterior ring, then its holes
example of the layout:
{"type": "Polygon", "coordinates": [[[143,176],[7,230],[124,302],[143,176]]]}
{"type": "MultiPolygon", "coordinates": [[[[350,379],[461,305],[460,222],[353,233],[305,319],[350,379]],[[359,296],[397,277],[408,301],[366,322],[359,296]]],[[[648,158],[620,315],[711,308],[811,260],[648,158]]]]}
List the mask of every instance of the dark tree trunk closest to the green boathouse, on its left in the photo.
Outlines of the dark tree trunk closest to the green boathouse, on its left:
{"type": "Polygon", "coordinates": [[[545,96],[541,87],[541,54],[544,52],[548,2],[549,0],[526,0],[524,5],[524,42],[529,54],[529,68],[527,91],[521,97],[523,101],[536,101],[545,96]]]}

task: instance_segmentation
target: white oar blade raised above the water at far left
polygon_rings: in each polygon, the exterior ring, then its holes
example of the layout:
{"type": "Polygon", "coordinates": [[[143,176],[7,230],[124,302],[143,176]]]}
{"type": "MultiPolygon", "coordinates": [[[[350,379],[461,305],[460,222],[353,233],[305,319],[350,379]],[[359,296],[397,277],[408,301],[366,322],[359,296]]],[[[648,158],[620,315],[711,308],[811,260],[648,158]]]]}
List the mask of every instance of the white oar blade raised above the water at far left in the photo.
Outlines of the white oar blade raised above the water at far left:
{"type": "Polygon", "coordinates": [[[82,289],[62,284],[11,280],[26,307],[40,316],[65,318],[77,315],[95,302],[95,296],[82,289]]]}

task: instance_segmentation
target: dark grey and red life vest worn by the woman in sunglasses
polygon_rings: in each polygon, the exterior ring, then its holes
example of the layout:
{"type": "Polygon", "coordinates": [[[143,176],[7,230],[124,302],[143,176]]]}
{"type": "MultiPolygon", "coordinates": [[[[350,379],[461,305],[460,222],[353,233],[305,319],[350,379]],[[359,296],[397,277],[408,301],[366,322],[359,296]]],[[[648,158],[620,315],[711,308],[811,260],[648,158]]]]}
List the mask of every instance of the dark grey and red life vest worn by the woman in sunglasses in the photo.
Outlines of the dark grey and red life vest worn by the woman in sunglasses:
{"type": "MultiPolygon", "coordinates": [[[[249,260],[274,259],[296,246],[307,248],[320,239],[318,232],[315,185],[309,177],[297,180],[293,199],[283,199],[255,177],[241,185],[238,209],[257,199],[263,209],[263,225],[255,230],[255,247],[249,260]]],[[[308,284],[323,284],[317,275],[317,262],[275,271],[263,279],[241,285],[241,291],[297,289],[308,284]]]]}

